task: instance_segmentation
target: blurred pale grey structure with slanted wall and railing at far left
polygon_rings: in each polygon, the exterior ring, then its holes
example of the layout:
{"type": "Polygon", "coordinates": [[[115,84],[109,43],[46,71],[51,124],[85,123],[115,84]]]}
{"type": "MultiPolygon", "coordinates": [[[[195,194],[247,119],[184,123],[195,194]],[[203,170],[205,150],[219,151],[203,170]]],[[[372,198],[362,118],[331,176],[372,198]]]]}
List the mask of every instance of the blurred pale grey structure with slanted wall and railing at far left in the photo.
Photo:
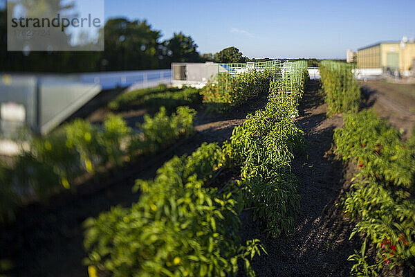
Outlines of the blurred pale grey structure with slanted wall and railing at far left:
{"type": "Polygon", "coordinates": [[[46,134],[102,90],[142,89],[170,82],[170,69],[66,75],[0,73],[0,135],[12,135],[21,125],[46,134]]]}

